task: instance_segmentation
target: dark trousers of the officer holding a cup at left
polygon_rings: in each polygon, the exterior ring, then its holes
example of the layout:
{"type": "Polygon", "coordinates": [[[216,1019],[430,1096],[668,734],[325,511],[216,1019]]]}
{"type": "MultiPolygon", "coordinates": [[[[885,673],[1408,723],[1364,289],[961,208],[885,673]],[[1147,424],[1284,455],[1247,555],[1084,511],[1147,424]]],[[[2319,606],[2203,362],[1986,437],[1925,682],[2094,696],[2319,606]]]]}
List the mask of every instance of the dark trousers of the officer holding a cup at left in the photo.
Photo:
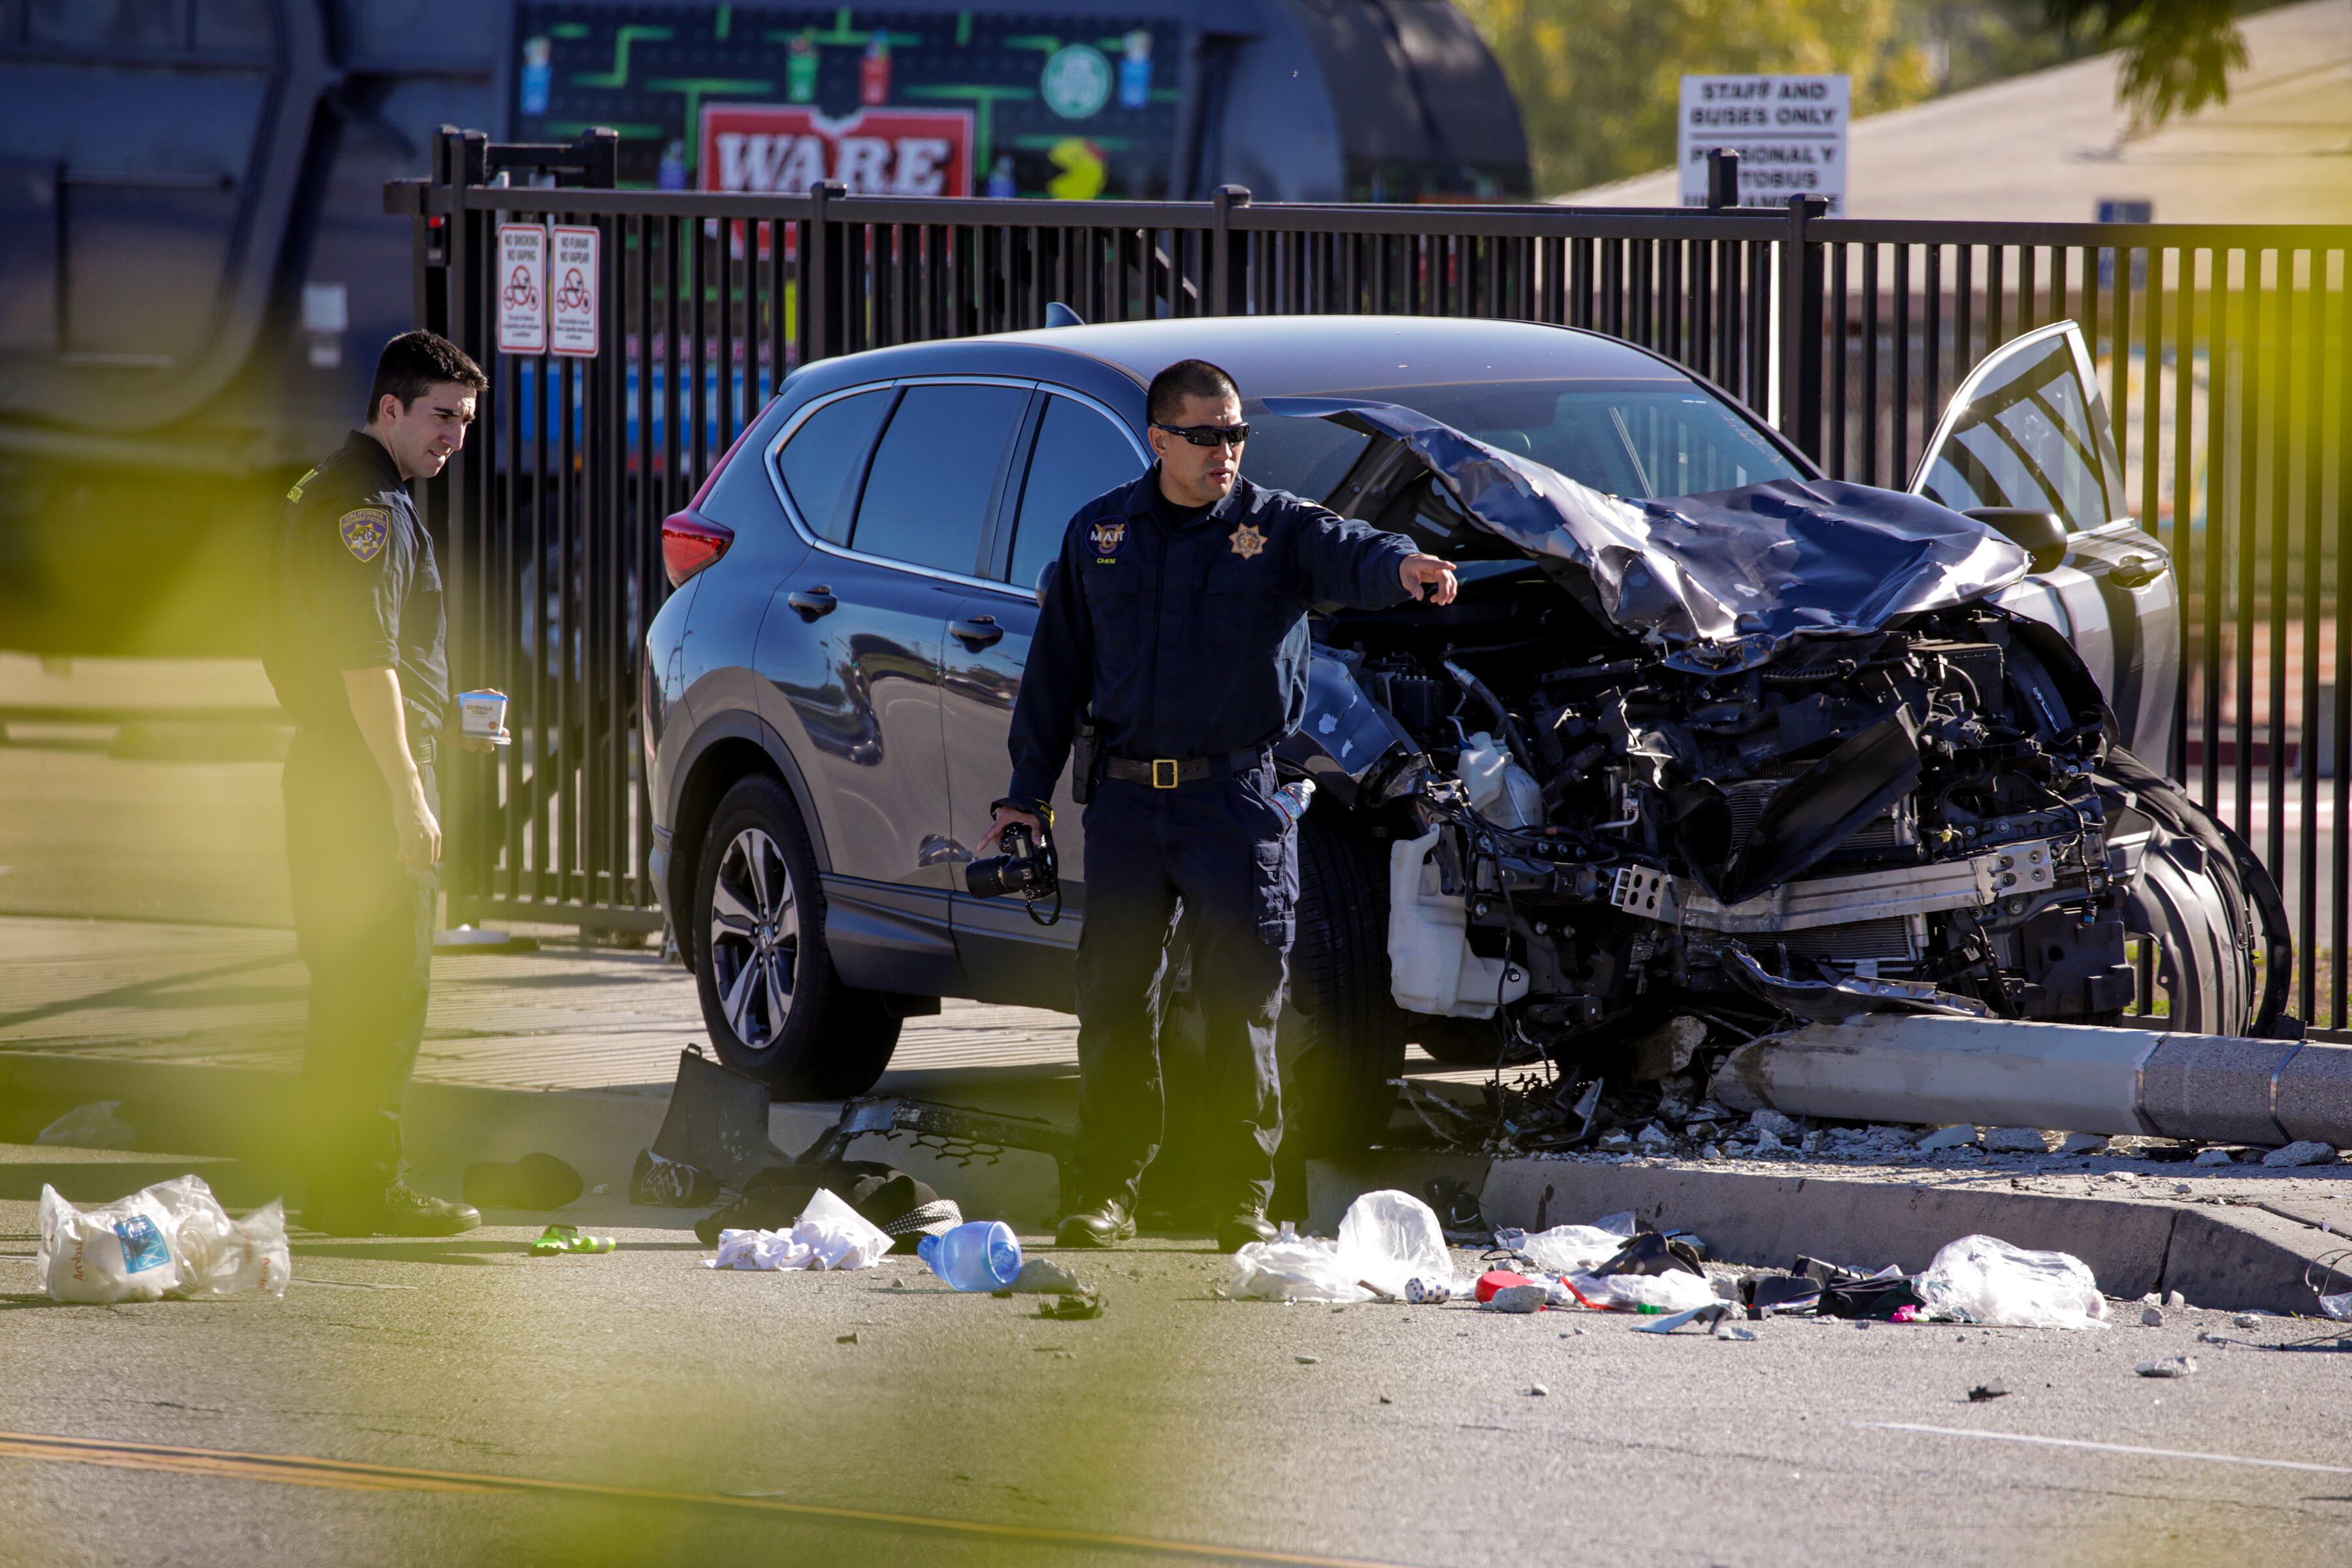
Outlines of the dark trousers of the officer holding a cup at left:
{"type": "MultiPolygon", "coordinates": [[[[433,766],[419,764],[440,816],[433,766]]],[[[393,797],[358,741],[296,731],[285,766],[294,938],[310,969],[303,1133],[313,1194],[400,1175],[400,1100],[426,1032],[435,875],[400,860],[393,797]]]]}

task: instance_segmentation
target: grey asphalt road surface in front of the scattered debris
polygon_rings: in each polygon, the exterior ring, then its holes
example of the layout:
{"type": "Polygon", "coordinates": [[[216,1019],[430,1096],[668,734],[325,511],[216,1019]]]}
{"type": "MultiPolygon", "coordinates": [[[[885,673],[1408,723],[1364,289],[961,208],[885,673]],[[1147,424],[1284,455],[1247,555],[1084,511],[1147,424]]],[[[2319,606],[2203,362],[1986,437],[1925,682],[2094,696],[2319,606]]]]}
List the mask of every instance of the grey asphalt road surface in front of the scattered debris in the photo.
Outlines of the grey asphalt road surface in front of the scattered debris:
{"type": "Polygon", "coordinates": [[[1061,1324],[913,1258],[708,1272],[682,1220],[597,1197],[564,1218],[619,1234],[612,1255],[529,1258],[517,1222],[296,1237],[282,1302],[38,1295],[40,1180],[96,1197],[160,1164],[0,1147],[0,1561],[1663,1568],[2352,1544],[2352,1356],[2199,1342],[2310,1340],[2307,1321],[2145,1328],[2131,1305],[2103,1333],[1661,1338],[1588,1312],[1230,1302],[1228,1260],[1160,1239],[1063,1253],[1108,1305],[1061,1324]],[[2180,1354],[2197,1375],[2133,1375],[2180,1354]],[[2009,1394],[1971,1403],[1985,1382],[2009,1394]]]}

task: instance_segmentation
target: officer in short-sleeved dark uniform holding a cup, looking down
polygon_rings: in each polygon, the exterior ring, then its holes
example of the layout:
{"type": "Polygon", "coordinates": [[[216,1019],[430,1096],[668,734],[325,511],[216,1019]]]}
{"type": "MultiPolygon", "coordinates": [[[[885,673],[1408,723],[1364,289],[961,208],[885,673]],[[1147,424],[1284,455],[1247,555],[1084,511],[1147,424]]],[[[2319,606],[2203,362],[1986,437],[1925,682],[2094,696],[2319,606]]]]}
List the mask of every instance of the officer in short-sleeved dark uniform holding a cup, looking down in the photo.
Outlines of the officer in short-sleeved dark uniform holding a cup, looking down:
{"type": "Polygon", "coordinates": [[[296,726],[287,865],[310,969],[303,1220],[334,1234],[452,1237],[482,1222],[400,1180],[400,1103],[433,978],[433,769],[449,712],[440,567],[409,480],[430,480],[466,442],[485,386],[447,339],[386,343],[367,428],[287,491],[270,557],[263,665],[296,726]]]}

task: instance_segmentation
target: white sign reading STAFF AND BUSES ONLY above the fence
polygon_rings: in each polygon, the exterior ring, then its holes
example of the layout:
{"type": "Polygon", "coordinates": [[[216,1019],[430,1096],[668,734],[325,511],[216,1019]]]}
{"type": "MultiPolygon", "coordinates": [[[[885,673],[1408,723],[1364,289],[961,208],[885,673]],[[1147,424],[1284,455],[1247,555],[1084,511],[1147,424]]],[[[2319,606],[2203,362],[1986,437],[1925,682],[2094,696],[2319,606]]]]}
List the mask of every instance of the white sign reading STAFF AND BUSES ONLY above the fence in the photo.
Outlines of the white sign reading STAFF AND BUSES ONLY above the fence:
{"type": "Polygon", "coordinates": [[[1740,207],[1823,195],[1830,216],[1844,216],[1851,101],[1844,75],[1682,78],[1682,205],[1708,205],[1708,153],[1731,148],[1740,155],[1740,207]]]}

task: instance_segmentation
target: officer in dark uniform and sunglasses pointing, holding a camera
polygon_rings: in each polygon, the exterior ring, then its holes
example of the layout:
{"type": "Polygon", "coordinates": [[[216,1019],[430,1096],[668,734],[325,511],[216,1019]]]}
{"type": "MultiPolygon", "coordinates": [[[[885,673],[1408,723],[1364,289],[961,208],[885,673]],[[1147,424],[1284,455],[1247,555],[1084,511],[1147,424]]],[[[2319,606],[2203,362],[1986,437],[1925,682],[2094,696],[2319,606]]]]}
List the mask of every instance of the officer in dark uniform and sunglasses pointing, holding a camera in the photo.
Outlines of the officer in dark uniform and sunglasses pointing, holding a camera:
{"type": "Polygon", "coordinates": [[[1183,898],[1192,992],[1216,1088],[1218,1246],[1272,1237],[1282,1140],[1275,1016],[1298,903],[1298,839],[1275,802],[1272,745],[1308,691],[1310,604],[1383,609],[1454,567],[1397,534],[1240,477],[1242,395],[1204,360],[1152,378],[1157,463],[1070,520],[1044,585],[1021,696],[1014,776],[981,853],[1035,832],[1089,715],[1103,750],[1087,804],[1087,924],[1077,940],[1080,1208],[1063,1246],[1136,1234],[1136,1182],[1162,1135],[1157,994],[1183,898]]]}

